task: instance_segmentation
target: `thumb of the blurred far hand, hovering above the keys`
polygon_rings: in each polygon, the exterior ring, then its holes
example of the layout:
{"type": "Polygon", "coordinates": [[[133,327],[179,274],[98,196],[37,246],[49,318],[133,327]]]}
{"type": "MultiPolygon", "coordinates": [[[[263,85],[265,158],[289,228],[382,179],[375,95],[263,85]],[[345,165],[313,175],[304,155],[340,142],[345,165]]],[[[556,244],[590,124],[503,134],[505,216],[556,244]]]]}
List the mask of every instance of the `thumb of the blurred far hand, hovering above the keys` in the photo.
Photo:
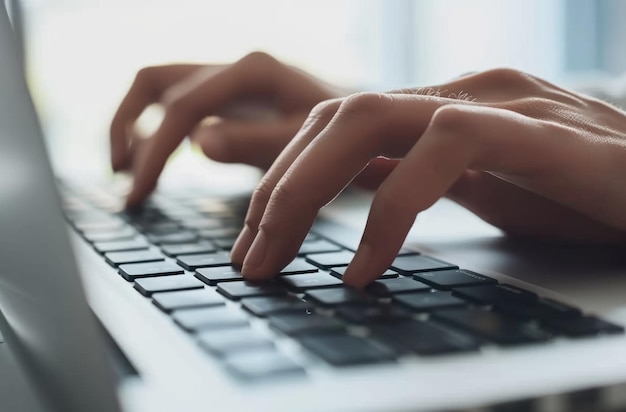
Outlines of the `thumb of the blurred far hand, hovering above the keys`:
{"type": "Polygon", "coordinates": [[[305,118],[305,114],[298,114],[269,121],[220,119],[198,126],[191,140],[207,157],[218,162],[268,169],[305,118]]]}

